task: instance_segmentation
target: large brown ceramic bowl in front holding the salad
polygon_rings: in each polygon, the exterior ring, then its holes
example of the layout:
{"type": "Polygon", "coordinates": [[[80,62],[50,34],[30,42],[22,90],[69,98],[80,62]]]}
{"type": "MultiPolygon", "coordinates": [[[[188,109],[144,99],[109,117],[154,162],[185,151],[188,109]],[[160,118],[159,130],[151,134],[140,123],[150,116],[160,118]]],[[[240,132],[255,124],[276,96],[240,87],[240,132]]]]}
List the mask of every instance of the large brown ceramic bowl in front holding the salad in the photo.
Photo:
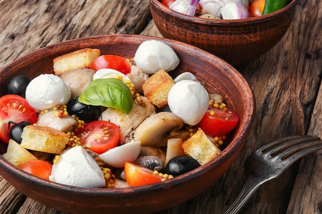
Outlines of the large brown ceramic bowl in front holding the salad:
{"type": "MultiPolygon", "coordinates": [[[[49,207],[71,213],[151,213],[181,204],[214,184],[235,161],[254,120],[255,102],[252,89],[233,67],[210,53],[181,42],[141,35],[101,35],[78,38],[51,45],[26,54],[0,70],[0,95],[9,80],[19,74],[30,78],[52,73],[53,59],[82,48],[99,48],[101,54],[133,57],[142,42],[152,38],[169,44],[181,60],[172,76],[190,71],[211,93],[224,96],[229,107],[240,116],[226,148],[209,163],[174,179],[153,185],[131,188],[102,189],[66,186],[28,174],[14,167],[0,155],[0,174],[17,190],[49,207]]],[[[6,144],[0,142],[1,153],[6,144]]]]}

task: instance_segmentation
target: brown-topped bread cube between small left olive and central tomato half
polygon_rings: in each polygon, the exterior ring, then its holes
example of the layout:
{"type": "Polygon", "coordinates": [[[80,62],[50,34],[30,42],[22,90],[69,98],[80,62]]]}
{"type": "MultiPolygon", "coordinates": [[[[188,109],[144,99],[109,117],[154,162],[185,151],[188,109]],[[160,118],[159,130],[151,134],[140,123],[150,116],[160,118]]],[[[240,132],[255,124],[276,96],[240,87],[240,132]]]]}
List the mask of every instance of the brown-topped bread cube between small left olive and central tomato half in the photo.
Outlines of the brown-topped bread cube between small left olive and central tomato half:
{"type": "Polygon", "coordinates": [[[54,128],[28,125],[21,134],[21,146],[35,151],[60,154],[69,141],[69,135],[54,128]]]}

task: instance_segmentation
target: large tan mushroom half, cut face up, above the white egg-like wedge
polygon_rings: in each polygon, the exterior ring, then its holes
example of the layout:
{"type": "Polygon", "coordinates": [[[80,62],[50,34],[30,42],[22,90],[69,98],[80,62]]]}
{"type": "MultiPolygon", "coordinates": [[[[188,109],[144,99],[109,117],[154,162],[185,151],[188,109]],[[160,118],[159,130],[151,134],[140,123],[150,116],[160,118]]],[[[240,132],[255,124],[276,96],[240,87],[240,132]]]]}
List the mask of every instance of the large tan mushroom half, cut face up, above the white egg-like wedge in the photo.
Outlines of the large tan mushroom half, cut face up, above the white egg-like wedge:
{"type": "Polygon", "coordinates": [[[172,112],[159,112],[144,120],[134,130],[134,140],[141,141],[142,146],[166,146],[170,132],[183,127],[183,121],[172,112]]]}

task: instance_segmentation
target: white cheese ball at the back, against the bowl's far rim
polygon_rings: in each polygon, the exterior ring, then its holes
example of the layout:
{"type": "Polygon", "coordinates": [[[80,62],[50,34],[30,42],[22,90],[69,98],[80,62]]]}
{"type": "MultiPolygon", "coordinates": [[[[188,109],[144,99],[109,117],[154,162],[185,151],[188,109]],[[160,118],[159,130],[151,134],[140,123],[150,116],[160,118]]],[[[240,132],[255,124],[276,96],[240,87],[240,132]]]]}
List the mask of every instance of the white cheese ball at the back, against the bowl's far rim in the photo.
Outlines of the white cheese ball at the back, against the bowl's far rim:
{"type": "Polygon", "coordinates": [[[175,69],[180,60],[169,45],[157,40],[148,40],[137,48],[134,62],[142,71],[153,74],[160,69],[167,72],[175,69]]]}

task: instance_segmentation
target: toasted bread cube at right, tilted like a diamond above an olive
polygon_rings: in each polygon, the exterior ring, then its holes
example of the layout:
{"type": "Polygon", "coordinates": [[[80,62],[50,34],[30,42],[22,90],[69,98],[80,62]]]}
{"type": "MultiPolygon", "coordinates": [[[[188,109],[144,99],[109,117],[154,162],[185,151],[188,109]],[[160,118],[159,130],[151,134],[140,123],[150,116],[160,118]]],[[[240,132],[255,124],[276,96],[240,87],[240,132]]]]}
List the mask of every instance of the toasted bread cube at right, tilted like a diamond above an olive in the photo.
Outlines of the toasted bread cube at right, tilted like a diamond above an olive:
{"type": "Polygon", "coordinates": [[[216,145],[211,143],[202,129],[196,131],[191,138],[186,140],[182,144],[182,148],[186,154],[198,161],[200,165],[208,163],[221,152],[216,145]]]}

